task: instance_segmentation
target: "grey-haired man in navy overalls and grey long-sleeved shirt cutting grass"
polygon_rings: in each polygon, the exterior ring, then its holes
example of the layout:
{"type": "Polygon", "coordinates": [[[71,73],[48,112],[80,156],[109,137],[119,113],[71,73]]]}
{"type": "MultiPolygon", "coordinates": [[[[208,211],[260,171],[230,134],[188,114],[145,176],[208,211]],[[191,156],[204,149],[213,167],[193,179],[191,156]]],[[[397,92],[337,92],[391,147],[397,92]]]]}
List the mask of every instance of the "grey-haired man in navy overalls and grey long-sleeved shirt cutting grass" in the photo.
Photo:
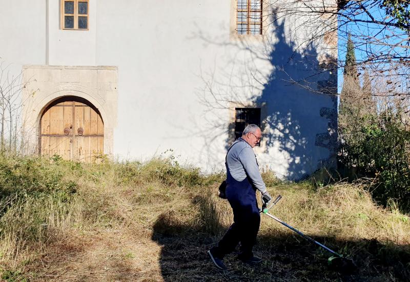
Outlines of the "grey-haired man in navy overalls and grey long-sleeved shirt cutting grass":
{"type": "Polygon", "coordinates": [[[238,259],[247,264],[262,261],[252,253],[259,231],[260,215],[256,202],[256,190],[262,193],[262,200],[268,204],[272,199],[259,172],[253,148],[260,142],[261,131],[257,125],[248,125],[229,148],[226,156],[227,188],[226,197],[234,213],[234,223],[219,241],[208,251],[214,265],[226,269],[223,257],[240,242],[238,259]]]}

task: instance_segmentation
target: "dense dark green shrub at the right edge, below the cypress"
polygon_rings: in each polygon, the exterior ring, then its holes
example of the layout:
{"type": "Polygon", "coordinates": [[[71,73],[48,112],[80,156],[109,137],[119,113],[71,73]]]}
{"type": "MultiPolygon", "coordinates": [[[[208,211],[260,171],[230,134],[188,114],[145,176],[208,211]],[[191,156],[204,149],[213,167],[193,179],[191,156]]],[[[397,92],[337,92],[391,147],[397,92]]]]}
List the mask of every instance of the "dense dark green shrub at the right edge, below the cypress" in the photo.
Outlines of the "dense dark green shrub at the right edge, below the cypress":
{"type": "Polygon", "coordinates": [[[340,162],[358,177],[372,177],[375,200],[386,206],[396,200],[403,211],[410,211],[410,132],[400,121],[400,113],[385,111],[367,115],[356,129],[342,132],[340,162]]]}

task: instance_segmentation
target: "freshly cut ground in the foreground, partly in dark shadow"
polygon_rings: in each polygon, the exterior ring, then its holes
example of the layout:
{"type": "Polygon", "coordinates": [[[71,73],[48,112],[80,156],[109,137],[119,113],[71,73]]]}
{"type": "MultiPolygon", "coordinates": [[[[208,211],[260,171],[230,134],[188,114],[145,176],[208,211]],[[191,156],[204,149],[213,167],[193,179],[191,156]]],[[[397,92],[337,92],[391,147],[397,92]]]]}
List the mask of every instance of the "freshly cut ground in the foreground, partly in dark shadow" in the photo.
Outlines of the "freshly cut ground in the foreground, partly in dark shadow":
{"type": "MultiPolygon", "coordinates": [[[[30,281],[400,281],[394,269],[368,254],[354,273],[327,268],[327,254],[301,238],[268,243],[260,238],[255,253],[262,264],[250,267],[226,257],[217,270],[206,252],[215,238],[124,234],[99,230],[67,235],[27,265],[30,281]]],[[[357,258],[359,258],[357,256],[357,258]]]]}

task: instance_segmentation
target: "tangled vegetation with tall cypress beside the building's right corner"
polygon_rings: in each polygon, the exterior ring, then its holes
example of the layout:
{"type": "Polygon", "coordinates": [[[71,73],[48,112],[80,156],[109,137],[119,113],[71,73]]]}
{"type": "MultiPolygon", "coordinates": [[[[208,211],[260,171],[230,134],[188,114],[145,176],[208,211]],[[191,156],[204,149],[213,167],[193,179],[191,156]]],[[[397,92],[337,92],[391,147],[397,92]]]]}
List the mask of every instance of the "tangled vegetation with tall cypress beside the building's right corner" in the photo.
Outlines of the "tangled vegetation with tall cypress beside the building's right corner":
{"type": "Polygon", "coordinates": [[[349,180],[371,178],[368,189],[377,202],[410,211],[410,100],[397,92],[403,83],[394,75],[379,79],[364,68],[363,86],[349,37],[339,105],[339,170],[349,180]],[[371,82],[371,79],[373,82],[371,82]]]}

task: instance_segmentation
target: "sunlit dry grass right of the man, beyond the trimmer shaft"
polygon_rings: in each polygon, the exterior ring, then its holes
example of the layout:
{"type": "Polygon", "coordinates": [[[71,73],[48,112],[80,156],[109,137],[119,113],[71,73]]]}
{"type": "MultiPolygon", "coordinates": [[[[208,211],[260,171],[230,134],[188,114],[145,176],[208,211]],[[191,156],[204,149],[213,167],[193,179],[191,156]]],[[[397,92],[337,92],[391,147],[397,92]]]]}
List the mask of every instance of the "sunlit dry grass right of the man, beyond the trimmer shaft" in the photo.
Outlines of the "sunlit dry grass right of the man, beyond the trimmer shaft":
{"type": "MultiPolygon", "coordinates": [[[[409,217],[400,214],[397,208],[378,207],[360,185],[338,184],[315,192],[298,185],[271,190],[283,196],[275,214],[302,232],[337,240],[360,238],[410,244],[409,217]]],[[[279,232],[277,224],[265,222],[263,226],[279,232]]]]}

